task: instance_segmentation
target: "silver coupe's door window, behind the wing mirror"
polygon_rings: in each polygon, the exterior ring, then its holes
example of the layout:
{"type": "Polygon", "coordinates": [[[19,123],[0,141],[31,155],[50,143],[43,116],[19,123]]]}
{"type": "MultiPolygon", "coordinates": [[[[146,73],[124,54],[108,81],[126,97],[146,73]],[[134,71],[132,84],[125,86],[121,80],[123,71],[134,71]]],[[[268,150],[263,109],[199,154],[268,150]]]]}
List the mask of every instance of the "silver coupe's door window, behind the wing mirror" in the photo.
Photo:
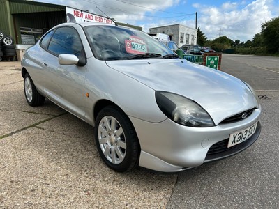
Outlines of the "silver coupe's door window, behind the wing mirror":
{"type": "Polygon", "coordinates": [[[78,57],[82,51],[82,41],[75,29],[61,27],[52,36],[48,50],[56,55],[75,54],[78,57]]]}

